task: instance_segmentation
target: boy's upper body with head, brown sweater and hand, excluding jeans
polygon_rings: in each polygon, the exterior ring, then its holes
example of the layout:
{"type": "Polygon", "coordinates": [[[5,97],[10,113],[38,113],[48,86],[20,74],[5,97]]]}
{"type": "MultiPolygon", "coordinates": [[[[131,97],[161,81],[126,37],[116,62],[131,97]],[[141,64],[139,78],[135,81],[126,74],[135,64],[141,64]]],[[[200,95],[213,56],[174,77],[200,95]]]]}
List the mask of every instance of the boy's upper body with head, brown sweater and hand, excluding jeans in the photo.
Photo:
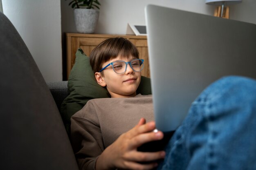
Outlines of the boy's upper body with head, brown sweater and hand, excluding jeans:
{"type": "Polygon", "coordinates": [[[95,78],[112,98],[90,100],[71,119],[80,169],[152,169],[157,163],[150,161],[164,158],[164,151],[137,151],[142,144],[163,138],[162,132],[152,132],[152,97],[136,94],[144,66],[138,56],[137,48],[124,38],[107,39],[92,51],[95,78]]]}

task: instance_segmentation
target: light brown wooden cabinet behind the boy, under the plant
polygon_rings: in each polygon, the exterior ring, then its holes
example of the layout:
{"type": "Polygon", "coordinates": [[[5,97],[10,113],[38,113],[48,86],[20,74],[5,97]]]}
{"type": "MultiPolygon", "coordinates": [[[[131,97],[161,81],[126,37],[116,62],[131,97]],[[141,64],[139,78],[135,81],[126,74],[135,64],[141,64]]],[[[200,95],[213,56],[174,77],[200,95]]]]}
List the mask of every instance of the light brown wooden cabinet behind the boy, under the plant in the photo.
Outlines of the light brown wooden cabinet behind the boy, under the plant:
{"type": "Polygon", "coordinates": [[[139,58],[144,59],[144,69],[141,75],[150,77],[149,61],[148,61],[148,44],[146,36],[136,35],[104,35],[104,34],[81,34],[81,33],[66,33],[67,42],[67,79],[70,75],[71,68],[75,63],[75,54],[79,47],[86,55],[90,55],[92,49],[103,40],[112,37],[124,37],[130,40],[139,51],[139,58]]]}

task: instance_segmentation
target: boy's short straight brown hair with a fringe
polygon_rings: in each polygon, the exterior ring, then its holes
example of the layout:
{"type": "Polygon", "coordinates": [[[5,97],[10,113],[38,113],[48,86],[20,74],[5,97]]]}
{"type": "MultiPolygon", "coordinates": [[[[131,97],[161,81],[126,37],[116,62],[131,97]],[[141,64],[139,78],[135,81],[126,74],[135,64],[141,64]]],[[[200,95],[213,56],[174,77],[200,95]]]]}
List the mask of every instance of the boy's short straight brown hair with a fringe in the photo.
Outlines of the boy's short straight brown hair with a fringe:
{"type": "Polygon", "coordinates": [[[90,65],[93,72],[99,72],[104,62],[115,59],[119,55],[139,58],[139,51],[129,40],[122,37],[104,40],[90,54],[90,65]]]}

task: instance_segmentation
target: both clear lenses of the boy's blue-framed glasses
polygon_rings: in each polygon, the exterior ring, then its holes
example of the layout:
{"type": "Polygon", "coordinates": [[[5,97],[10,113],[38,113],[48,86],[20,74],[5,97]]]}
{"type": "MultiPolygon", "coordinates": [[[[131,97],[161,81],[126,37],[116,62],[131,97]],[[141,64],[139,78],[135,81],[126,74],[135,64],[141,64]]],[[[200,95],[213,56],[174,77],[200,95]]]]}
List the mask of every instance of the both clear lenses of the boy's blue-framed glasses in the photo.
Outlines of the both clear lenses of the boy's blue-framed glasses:
{"type": "MultiPolygon", "coordinates": [[[[134,71],[141,71],[143,69],[143,62],[141,60],[132,60],[130,66],[134,71]]],[[[116,73],[124,73],[126,71],[126,62],[116,61],[112,64],[116,73]]]]}

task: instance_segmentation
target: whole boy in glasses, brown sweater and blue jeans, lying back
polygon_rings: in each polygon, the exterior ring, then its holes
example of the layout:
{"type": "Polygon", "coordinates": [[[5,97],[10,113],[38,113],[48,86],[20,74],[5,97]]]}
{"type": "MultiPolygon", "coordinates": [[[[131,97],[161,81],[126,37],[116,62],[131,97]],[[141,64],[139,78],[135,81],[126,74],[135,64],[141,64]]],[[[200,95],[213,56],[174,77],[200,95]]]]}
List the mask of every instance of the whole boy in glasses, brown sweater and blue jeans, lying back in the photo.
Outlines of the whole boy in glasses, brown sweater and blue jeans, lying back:
{"type": "Polygon", "coordinates": [[[138,152],[163,133],[152,132],[152,97],[136,94],[143,68],[136,47],[123,38],[108,39],[91,53],[90,64],[112,98],[90,100],[71,119],[80,169],[152,169],[164,157],[159,170],[256,169],[254,79],[230,76],[214,82],[191,104],[166,152],[138,152]]]}

